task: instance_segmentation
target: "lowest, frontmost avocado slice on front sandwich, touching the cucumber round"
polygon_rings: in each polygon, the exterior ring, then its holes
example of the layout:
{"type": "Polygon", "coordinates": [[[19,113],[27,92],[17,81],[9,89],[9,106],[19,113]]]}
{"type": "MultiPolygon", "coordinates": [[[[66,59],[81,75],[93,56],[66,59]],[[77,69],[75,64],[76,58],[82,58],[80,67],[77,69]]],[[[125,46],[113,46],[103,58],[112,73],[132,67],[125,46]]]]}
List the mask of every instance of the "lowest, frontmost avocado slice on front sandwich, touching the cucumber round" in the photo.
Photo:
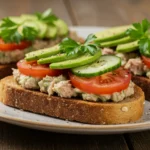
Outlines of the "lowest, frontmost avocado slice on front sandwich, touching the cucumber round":
{"type": "Polygon", "coordinates": [[[75,59],[66,60],[62,62],[50,64],[51,69],[68,69],[83,66],[95,62],[101,56],[101,51],[98,51],[95,55],[85,54],[75,59]]]}

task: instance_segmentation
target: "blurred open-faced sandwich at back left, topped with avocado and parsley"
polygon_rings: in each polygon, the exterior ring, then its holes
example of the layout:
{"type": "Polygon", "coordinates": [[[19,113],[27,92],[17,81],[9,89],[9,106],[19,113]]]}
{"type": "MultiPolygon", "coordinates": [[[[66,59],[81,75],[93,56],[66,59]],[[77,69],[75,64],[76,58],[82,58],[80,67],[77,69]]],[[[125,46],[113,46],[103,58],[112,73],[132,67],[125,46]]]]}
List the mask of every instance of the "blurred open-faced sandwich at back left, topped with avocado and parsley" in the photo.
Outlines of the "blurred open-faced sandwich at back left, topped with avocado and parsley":
{"type": "Polygon", "coordinates": [[[0,78],[10,75],[14,63],[23,59],[25,53],[53,46],[66,36],[80,41],[51,9],[35,15],[3,18],[0,21],[0,78]]]}

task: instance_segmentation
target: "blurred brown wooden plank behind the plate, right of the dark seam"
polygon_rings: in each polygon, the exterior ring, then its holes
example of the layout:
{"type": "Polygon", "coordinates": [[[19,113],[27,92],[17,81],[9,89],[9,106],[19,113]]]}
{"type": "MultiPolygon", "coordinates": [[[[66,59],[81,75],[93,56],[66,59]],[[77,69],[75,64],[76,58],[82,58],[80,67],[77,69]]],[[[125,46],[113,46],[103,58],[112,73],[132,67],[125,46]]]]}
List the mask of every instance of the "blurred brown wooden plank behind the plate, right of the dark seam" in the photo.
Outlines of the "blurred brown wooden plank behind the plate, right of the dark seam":
{"type": "Polygon", "coordinates": [[[116,26],[150,19],[149,0],[65,0],[78,25],[116,26]]]}

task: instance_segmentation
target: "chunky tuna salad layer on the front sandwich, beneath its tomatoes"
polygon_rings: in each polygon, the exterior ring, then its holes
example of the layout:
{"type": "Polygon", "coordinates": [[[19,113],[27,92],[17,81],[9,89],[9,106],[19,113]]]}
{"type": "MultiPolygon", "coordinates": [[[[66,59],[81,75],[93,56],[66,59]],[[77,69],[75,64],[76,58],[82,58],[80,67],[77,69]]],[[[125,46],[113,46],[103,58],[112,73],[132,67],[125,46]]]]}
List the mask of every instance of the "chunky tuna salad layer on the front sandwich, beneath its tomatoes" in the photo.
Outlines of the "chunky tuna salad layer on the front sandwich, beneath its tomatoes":
{"type": "Polygon", "coordinates": [[[114,102],[119,102],[134,94],[134,83],[132,81],[130,81],[128,88],[120,92],[96,95],[83,92],[80,89],[73,87],[70,80],[64,75],[57,77],[46,76],[41,79],[23,75],[18,69],[13,69],[13,76],[17,83],[23,88],[31,90],[38,89],[41,92],[48,93],[49,96],[57,94],[64,98],[81,97],[83,100],[87,101],[106,102],[112,100],[114,102]]]}

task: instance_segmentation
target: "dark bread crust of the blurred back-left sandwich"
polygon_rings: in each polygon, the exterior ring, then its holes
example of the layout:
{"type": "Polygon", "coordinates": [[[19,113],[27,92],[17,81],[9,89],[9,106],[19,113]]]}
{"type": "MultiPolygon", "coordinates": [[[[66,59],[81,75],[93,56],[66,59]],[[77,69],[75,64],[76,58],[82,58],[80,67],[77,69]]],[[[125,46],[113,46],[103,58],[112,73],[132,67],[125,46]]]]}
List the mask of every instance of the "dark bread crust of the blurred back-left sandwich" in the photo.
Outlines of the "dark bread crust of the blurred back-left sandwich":
{"type": "Polygon", "coordinates": [[[0,79],[12,75],[12,68],[16,68],[16,63],[6,65],[0,64],[0,79]]]}

